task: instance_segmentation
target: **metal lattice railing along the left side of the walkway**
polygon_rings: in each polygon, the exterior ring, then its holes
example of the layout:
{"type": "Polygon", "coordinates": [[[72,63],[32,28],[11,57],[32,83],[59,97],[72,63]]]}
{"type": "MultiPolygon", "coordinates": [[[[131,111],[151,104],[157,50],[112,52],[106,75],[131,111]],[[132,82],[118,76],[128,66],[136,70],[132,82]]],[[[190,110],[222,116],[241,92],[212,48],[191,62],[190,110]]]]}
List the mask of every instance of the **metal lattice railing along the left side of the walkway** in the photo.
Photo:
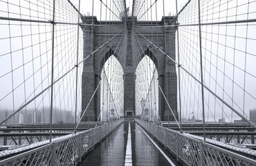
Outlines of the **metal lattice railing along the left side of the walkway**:
{"type": "Polygon", "coordinates": [[[93,129],[64,136],[63,139],[53,139],[51,143],[11,157],[6,156],[8,157],[6,159],[1,156],[3,160],[0,161],[0,165],[73,165],[122,122],[123,120],[116,120],[93,129]]]}

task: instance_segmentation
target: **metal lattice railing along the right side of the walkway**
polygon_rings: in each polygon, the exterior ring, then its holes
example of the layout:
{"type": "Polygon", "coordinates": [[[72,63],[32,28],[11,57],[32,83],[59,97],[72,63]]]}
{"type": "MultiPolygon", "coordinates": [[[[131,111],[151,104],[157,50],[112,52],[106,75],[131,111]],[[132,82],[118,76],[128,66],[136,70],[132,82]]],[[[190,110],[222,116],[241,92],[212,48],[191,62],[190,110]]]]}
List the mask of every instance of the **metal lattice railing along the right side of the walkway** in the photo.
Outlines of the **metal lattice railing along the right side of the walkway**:
{"type": "Polygon", "coordinates": [[[256,160],[252,158],[197,140],[179,131],[144,120],[136,122],[172,151],[177,160],[182,160],[187,165],[256,165],[256,160]]]}

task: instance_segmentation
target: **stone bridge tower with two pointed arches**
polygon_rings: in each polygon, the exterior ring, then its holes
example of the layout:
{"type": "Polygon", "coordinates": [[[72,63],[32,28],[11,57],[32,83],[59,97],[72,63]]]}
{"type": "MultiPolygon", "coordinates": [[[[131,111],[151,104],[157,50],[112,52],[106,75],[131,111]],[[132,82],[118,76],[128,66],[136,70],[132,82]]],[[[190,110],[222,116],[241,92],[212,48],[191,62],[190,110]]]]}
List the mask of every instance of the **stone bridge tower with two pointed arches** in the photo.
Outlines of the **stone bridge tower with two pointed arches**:
{"type": "MultiPolygon", "coordinates": [[[[107,59],[114,55],[120,62],[122,69],[124,71],[124,116],[136,115],[135,112],[135,71],[139,64],[138,58],[133,55],[133,30],[134,26],[136,30],[141,33],[141,35],[151,34],[154,38],[152,42],[156,44],[161,50],[165,51],[167,55],[170,55],[175,59],[175,26],[172,28],[142,28],[143,26],[163,26],[163,25],[174,25],[176,20],[174,17],[163,17],[162,21],[136,21],[136,17],[128,17],[125,21],[98,21],[96,17],[83,17],[82,21],[84,24],[94,24],[95,26],[81,26],[84,33],[84,70],[82,73],[82,111],[86,108],[93,92],[98,86],[101,78],[100,73],[102,67],[107,59]],[[116,25],[116,28],[111,28],[106,25],[116,25]],[[99,26],[103,25],[103,26],[99,26]],[[119,49],[118,42],[122,37],[122,33],[126,30],[126,41],[125,41],[125,58],[120,59],[118,57],[119,49]],[[118,34],[115,38],[111,40],[105,46],[100,46],[107,42],[113,35],[118,34]],[[142,33],[143,32],[143,33],[142,33]],[[93,55],[94,50],[100,48],[93,55]],[[91,56],[89,56],[91,55],[91,56]],[[89,56],[89,57],[88,57],[89,56]]],[[[137,36],[141,36],[136,33],[137,36]]],[[[148,55],[152,58],[156,65],[158,71],[158,84],[163,89],[167,100],[174,111],[176,118],[178,118],[177,113],[177,78],[176,78],[176,66],[174,62],[168,59],[163,53],[161,53],[156,47],[152,46],[143,37],[138,38],[140,44],[143,46],[143,51],[141,57],[148,55]]],[[[161,120],[174,120],[170,109],[163,98],[161,91],[158,94],[158,112],[161,120]]],[[[81,114],[82,115],[82,114],[81,114]]],[[[100,115],[100,89],[98,93],[95,93],[95,97],[91,101],[89,108],[87,109],[83,121],[87,120],[97,120],[100,115]]]]}

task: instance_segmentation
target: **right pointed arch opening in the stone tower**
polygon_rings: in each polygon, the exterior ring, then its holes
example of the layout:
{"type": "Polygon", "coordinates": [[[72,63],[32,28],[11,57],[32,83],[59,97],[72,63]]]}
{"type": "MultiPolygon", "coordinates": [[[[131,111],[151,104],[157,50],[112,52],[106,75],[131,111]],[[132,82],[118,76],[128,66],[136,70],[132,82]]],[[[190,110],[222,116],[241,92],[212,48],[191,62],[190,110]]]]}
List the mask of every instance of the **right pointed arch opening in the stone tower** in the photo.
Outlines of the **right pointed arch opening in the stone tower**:
{"type": "Polygon", "coordinates": [[[136,116],[148,121],[157,121],[159,120],[158,71],[149,56],[145,55],[140,60],[135,72],[136,116]]]}

